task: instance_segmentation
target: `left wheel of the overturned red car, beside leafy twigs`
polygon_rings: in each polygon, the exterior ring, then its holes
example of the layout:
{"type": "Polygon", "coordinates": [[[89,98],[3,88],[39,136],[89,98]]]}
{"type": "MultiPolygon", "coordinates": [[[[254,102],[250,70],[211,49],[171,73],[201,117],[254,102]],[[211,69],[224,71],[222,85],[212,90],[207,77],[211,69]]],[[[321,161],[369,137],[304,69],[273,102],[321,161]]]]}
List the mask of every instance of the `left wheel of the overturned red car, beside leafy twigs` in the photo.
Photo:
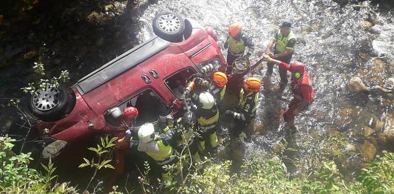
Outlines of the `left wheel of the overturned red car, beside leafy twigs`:
{"type": "Polygon", "coordinates": [[[38,95],[32,95],[29,108],[35,116],[43,122],[54,122],[64,116],[71,95],[63,87],[37,91],[38,95]]]}

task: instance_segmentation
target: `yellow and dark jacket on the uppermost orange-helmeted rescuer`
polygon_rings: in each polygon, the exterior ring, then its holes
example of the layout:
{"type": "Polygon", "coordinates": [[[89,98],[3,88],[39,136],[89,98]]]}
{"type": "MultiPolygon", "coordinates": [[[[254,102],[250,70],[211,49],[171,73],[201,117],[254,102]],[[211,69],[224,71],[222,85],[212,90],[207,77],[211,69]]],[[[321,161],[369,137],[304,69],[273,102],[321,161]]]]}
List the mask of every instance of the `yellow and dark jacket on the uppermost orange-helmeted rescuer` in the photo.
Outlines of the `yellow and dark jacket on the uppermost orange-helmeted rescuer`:
{"type": "Polygon", "coordinates": [[[251,38],[249,38],[244,33],[242,33],[241,38],[239,40],[236,40],[235,38],[228,36],[225,45],[228,45],[228,51],[232,55],[236,55],[236,56],[244,54],[246,46],[248,46],[249,48],[248,53],[250,55],[252,55],[254,51],[254,42],[252,41],[251,38]]]}

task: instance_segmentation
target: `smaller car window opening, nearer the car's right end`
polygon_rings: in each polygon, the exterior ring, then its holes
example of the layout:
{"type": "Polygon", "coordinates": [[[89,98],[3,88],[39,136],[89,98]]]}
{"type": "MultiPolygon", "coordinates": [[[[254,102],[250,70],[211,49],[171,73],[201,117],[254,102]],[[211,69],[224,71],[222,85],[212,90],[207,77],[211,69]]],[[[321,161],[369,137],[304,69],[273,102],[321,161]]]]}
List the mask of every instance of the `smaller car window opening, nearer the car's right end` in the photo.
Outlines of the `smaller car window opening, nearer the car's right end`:
{"type": "Polygon", "coordinates": [[[182,69],[178,71],[176,74],[173,74],[171,77],[167,78],[165,80],[165,84],[175,95],[175,97],[177,99],[180,99],[182,98],[183,90],[186,87],[187,79],[195,73],[196,71],[191,67],[182,69]]]}

